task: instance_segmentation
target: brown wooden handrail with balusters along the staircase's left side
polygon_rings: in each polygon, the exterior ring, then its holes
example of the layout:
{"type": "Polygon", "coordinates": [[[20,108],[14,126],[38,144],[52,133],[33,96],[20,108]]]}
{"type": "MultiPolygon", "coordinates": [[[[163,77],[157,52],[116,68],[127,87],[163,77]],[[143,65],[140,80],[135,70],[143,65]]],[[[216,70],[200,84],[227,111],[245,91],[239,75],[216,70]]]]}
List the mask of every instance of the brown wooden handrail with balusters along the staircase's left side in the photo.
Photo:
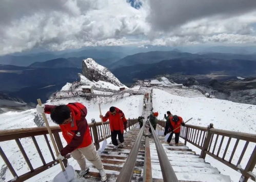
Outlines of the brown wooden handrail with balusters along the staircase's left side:
{"type": "MultiPolygon", "coordinates": [[[[133,127],[133,126],[135,126],[135,124],[137,122],[138,122],[137,119],[130,119],[129,120],[129,126],[133,127]]],[[[96,150],[99,149],[99,146],[100,146],[99,143],[100,143],[100,141],[103,140],[101,135],[100,135],[101,125],[102,125],[101,122],[88,124],[88,126],[90,128],[90,133],[91,133],[91,136],[92,136],[92,140],[93,140],[93,143],[95,145],[96,150]],[[100,136],[100,137],[98,137],[98,136],[100,136]]],[[[109,129],[109,122],[105,122],[104,127],[107,128],[106,138],[108,138],[108,137],[111,136],[110,129],[109,129]]],[[[61,128],[59,126],[51,126],[50,129],[51,129],[51,132],[54,135],[54,138],[56,140],[56,144],[57,144],[58,149],[61,150],[63,148],[62,142],[61,142],[61,139],[60,139],[60,136],[59,136],[59,132],[61,132],[61,128]]],[[[56,162],[58,163],[58,161],[55,161],[55,157],[52,153],[52,149],[51,149],[51,146],[49,145],[49,141],[48,141],[48,138],[47,138],[46,134],[48,134],[48,131],[47,131],[46,127],[0,130],[0,141],[16,140],[16,142],[17,142],[17,141],[19,141],[20,138],[32,137],[32,140],[33,140],[33,143],[35,145],[35,148],[36,148],[37,152],[40,151],[40,146],[36,145],[37,143],[36,143],[36,139],[34,138],[34,136],[42,135],[46,139],[47,146],[48,146],[48,148],[51,152],[51,155],[52,155],[53,160],[46,164],[45,160],[43,158],[43,155],[39,154],[40,157],[41,157],[43,165],[36,168],[36,169],[32,169],[27,173],[24,173],[24,174],[21,174],[21,175],[18,176],[15,172],[15,169],[13,169],[11,163],[9,162],[7,156],[5,155],[4,151],[0,148],[0,154],[1,154],[2,158],[5,161],[5,164],[10,169],[13,176],[16,178],[15,181],[24,181],[26,179],[29,179],[30,177],[33,177],[34,175],[36,175],[38,173],[41,173],[41,172],[47,170],[48,168],[52,167],[53,164],[56,164],[56,162]]],[[[19,142],[18,142],[18,145],[19,145],[20,148],[22,148],[22,145],[19,142]]],[[[28,155],[28,154],[25,151],[23,151],[23,155],[28,155]]],[[[70,154],[66,155],[66,157],[69,158],[70,154]]],[[[29,157],[26,157],[26,158],[27,158],[27,163],[30,164],[30,161],[28,159],[29,157]]],[[[65,164],[65,161],[64,161],[64,164],[65,164]]]]}

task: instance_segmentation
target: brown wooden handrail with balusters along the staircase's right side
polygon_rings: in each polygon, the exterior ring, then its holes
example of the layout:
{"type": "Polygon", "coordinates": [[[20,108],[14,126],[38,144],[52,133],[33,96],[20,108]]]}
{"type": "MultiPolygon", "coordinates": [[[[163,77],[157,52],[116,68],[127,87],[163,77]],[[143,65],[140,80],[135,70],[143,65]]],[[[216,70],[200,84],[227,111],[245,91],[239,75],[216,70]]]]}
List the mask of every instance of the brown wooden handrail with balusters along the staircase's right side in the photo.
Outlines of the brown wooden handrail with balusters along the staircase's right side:
{"type": "MultiPolygon", "coordinates": [[[[161,125],[162,127],[165,126],[165,122],[163,122],[161,120],[158,121],[158,124],[161,125]]],[[[242,174],[241,181],[246,182],[248,180],[248,178],[255,180],[255,177],[250,173],[250,171],[255,167],[255,164],[256,164],[256,154],[255,154],[256,153],[256,145],[254,146],[254,150],[251,153],[250,159],[247,161],[247,165],[246,165],[245,169],[242,169],[240,167],[240,164],[243,159],[244,153],[247,150],[248,144],[256,143],[256,134],[214,129],[211,127],[208,127],[208,129],[207,129],[207,127],[185,125],[181,129],[180,137],[182,137],[185,140],[185,144],[187,142],[189,142],[190,144],[200,148],[202,150],[201,157],[205,158],[205,155],[208,154],[211,157],[221,161],[221,163],[225,164],[226,166],[228,166],[236,171],[239,171],[242,174]],[[197,134],[196,134],[196,132],[197,132],[197,134]],[[200,135],[199,135],[199,132],[200,132],[200,135]],[[213,141],[214,135],[216,135],[215,142],[214,142],[212,152],[210,152],[211,145],[213,144],[212,141],[213,141]],[[199,136],[199,139],[198,139],[198,136],[199,136]],[[196,137],[196,139],[195,139],[195,137],[196,137]],[[224,146],[225,147],[224,154],[222,157],[220,157],[219,154],[220,154],[220,150],[222,148],[224,137],[229,137],[229,139],[228,139],[228,143],[226,144],[226,146],[224,146]],[[227,153],[229,143],[232,138],[237,139],[237,141],[236,141],[234,147],[231,149],[231,151],[232,151],[231,156],[229,157],[229,159],[226,160],[225,154],[227,153]],[[220,146],[216,146],[218,139],[221,139],[220,146]],[[244,145],[243,151],[241,152],[238,163],[232,164],[232,157],[235,153],[235,150],[237,150],[237,145],[239,143],[239,140],[244,140],[244,141],[246,141],[246,143],[244,145]],[[200,141],[201,141],[201,144],[200,144],[200,141]],[[214,152],[216,154],[214,154],[214,152]]]]}

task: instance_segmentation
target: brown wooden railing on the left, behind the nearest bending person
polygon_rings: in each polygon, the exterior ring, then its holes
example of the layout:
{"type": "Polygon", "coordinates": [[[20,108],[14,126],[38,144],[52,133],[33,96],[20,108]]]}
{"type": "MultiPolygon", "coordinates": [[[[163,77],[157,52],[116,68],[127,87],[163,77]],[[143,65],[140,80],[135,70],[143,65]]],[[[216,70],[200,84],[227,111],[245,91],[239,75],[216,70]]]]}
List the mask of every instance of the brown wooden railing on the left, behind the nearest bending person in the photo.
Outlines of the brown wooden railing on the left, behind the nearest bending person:
{"type": "MultiPolygon", "coordinates": [[[[128,123],[127,123],[127,128],[131,129],[132,127],[134,127],[137,123],[137,119],[128,119],[128,123]]],[[[92,136],[92,142],[95,145],[96,150],[98,150],[100,148],[100,142],[104,140],[104,136],[103,136],[103,129],[102,129],[102,124],[101,122],[95,122],[95,123],[90,123],[89,125],[89,129],[90,129],[90,134],[92,136]]],[[[106,131],[106,138],[111,136],[111,131],[110,131],[110,127],[109,127],[109,122],[105,122],[104,123],[104,127],[105,127],[105,131],[106,131]]],[[[56,141],[58,150],[62,150],[63,149],[63,144],[62,144],[62,140],[60,137],[60,132],[61,129],[59,126],[53,126],[51,127],[51,131],[52,134],[54,136],[54,139],[56,141]]],[[[14,129],[14,130],[2,130],[0,131],[0,142],[8,142],[8,141],[15,141],[18,148],[19,148],[19,152],[22,153],[26,164],[29,167],[29,172],[18,175],[17,174],[17,169],[14,169],[14,167],[12,166],[11,162],[9,161],[8,157],[6,156],[4,150],[0,147],[0,155],[3,158],[6,166],[8,167],[8,169],[10,170],[11,174],[13,175],[13,179],[7,179],[9,181],[11,180],[15,180],[15,181],[24,181],[30,177],[35,176],[38,173],[41,173],[45,170],[47,170],[48,168],[56,165],[58,163],[58,160],[55,159],[54,153],[52,151],[52,147],[50,145],[49,139],[47,137],[48,135],[48,131],[46,127],[38,127],[38,128],[23,128],[23,129],[14,129]],[[37,143],[37,140],[35,138],[35,136],[42,136],[45,138],[47,147],[49,149],[49,152],[51,154],[52,157],[52,161],[46,163],[44,154],[41,152],[42,146],[39,146],[37,143]],[[37,167],[37,168],[33,168],[33,165],[31,164],[31,161],[29,159],[29,154],[30,151],[28,153],[26,153],[26,151],[24,150],[24,147],[21,143],[21,138],[31,138],[34,146],[36,148],[36,151],[38,153],[38,155],[41,158],[42,161],[42,166],[37,167]]],[[[0,143],[1,145],[1,143],[0,143]]],[[[15,147],[15,146],[13,146],[15,147]]],[[[70,154],[66,155],[66,158],[69,158],[70,154]]],[[[64,160],[64,165],[67,166],[67,159],[64,160]]]]}

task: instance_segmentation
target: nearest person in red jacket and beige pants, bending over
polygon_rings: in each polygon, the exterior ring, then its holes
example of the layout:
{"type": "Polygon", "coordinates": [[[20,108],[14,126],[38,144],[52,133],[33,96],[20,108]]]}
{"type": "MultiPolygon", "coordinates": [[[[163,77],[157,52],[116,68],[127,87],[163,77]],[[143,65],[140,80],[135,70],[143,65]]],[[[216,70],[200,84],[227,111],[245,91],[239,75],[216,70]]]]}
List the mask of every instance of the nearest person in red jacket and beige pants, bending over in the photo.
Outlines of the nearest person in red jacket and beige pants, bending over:
{"type": "Polygon", "coordinates": [[[86,107],[80,103],[69,103],[60,106],[37,105],[36,110],[40,113],[51,114],[53,122],[61,127],[67,146],[60,151],[57,159],[64,159],[64,156],[70,153],[81,168],[79,175],[83,176],[89,171],[86,166],[86,158],[99,170],[101,180],[106,181],[107,176],[102,161],[95,151],[85,118],[87,115],[86,107]]]}

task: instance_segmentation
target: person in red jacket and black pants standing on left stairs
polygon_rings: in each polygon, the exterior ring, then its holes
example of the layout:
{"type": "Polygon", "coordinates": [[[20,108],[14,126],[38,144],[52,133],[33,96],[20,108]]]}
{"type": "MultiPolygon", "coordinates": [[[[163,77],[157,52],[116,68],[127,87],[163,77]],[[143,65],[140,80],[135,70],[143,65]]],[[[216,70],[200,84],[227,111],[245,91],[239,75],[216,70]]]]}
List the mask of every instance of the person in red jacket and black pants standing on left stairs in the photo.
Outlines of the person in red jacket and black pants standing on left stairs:
{"type": "Polygon", "coordinates": [[[109,111],[105,114],[105,116],[100,115],[100,118],[103,119],[103,122],[109,120],[111,140],[112,144],[115,146],[114,148],[119,146],[124,147],[124,130],[126,130],[127,120],[123,111],[112,106],[109,108],[109,111]],[[116,139],[117,135],[120,141],[120,145],[116,139]]]}

